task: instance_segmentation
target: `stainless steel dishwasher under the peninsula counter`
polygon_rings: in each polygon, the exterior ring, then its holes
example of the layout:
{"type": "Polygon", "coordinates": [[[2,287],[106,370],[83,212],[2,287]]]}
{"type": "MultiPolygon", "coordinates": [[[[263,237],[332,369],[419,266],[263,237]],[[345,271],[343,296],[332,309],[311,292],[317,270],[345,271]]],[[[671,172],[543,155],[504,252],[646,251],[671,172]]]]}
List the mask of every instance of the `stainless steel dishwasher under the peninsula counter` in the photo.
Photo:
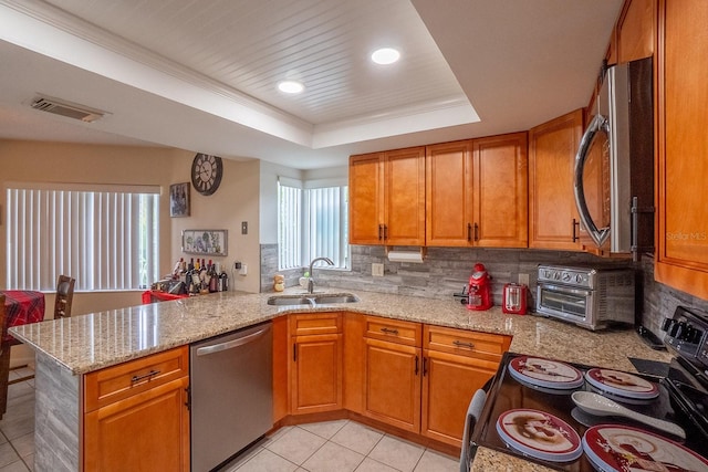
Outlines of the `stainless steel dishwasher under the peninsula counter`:
{"type": "Polygon", "coordinates": [[[190,346],[191,470],[210,471],[273,427],[271,323],[190,346]]]}

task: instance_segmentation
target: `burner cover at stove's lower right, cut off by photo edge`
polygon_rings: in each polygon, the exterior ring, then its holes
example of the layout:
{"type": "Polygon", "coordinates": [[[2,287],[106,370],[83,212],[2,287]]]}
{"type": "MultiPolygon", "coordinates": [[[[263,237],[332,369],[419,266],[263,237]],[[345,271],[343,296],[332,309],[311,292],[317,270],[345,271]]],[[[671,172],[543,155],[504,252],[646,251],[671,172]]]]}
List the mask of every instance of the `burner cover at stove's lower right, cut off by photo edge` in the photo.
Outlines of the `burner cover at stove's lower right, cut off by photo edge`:
{"type": "Polygon", "coordinates": [[[583,450],[601,471],[706,471],[708,459],[648,431],[597,424],[583,436],[583,450]]]}

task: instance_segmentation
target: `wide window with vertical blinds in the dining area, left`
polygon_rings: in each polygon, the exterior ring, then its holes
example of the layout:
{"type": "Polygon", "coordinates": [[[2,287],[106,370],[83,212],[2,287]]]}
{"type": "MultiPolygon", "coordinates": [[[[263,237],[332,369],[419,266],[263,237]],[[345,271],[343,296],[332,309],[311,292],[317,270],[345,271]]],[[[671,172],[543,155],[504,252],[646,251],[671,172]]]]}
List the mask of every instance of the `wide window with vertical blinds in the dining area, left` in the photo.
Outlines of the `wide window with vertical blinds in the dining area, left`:
{"type": "Polygon", "coordinates": [[[7,285],[138,290],[159,279],[159,187],[10,183],[7,285]]]}

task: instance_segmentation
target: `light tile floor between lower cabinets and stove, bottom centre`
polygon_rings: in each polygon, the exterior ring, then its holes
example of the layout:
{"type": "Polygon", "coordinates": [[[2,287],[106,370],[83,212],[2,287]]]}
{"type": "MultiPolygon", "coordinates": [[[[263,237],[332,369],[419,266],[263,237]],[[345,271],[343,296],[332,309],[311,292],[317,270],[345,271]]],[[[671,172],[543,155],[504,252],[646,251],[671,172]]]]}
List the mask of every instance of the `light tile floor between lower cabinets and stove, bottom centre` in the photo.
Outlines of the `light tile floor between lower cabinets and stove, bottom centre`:
{"type": "Polygon", "coordinates": [[[350,420],[285,427],[221,472],[457,472],[441,454],[350,420]]]}

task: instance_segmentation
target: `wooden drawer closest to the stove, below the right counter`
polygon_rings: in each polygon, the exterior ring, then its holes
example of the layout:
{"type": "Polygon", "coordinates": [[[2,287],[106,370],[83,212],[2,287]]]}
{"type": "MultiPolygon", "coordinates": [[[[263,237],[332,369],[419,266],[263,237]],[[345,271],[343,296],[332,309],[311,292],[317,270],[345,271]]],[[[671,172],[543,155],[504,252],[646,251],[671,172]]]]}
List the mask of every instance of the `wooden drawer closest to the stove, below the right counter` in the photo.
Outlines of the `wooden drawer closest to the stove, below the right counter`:
{"type": "Polygon", "coordinates": [[[480,359],[499,360],[511,336],[425,325],[424,348],[480,359]]]}

